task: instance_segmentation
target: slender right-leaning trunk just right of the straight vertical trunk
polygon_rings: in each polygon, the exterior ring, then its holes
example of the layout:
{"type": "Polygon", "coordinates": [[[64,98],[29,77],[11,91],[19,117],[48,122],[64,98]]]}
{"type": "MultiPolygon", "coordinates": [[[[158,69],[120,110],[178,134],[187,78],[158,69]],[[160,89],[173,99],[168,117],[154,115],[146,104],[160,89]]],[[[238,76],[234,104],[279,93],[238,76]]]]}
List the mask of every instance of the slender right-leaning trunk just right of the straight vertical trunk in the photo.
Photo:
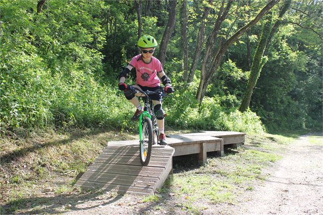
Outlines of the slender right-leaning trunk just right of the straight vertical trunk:
{"type": "MultiPolygon", "coordinates": [[[[212,0],[209,1],[209,4],[211,4],[211,3],[212,3],[212,0]]],[[[194,54],[193,62],[192,62],[191,69],[190,69],[190,74],[189,74],[188,81],[187,81],[188,83],[192,82],[194,79],[194,73],[196,70],[198,59],[199,59],[201,51],[202,51],[202,45],[203,45],[202,41],[203,41],[203,37],[204,37],[205,19],[208,18],[210,10],[211,10],[210,7],[204,8],[204,13],[202,16],[201,24],[198,28],[196,49],[195,49],[195,54],[194,54]]]]}

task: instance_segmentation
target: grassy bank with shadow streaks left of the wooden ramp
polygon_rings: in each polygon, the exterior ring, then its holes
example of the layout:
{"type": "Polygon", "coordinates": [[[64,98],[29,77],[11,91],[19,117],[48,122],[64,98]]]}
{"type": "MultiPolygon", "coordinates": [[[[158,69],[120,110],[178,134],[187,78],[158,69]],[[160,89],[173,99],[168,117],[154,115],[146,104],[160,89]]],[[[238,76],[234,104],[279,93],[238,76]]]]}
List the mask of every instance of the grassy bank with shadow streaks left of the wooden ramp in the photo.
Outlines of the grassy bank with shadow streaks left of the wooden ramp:
{"type": "MultiPolygon", "coordinates": [[[[0,139],[0,207],[7,205],[7,212],[20,212],[29,198],[46,195],[46,187],[54,188],[56,195],[70,194],[76,176],[87,169],[108,141],[120,139],[119,135],[115,131],[73,129],[18,132],[0,139]]],[[[130,133],[122,136],[133,138],[130,133]]]]}

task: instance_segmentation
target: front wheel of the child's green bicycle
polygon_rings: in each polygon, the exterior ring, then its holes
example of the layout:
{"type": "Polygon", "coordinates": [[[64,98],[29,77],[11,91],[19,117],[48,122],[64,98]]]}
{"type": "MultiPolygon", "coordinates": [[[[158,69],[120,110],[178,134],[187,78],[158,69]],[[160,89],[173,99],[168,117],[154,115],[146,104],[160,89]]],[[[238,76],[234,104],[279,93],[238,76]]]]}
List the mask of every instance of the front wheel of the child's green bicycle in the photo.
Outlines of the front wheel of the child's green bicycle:
{"type": "Polygon", "coordinates": [[[150,118],[146,117],[143,119],[141,132],[142,139],[139,145],[140,163],[143,166],[147,166],[150,161],[153,145],[153,124],[150,118]]]}

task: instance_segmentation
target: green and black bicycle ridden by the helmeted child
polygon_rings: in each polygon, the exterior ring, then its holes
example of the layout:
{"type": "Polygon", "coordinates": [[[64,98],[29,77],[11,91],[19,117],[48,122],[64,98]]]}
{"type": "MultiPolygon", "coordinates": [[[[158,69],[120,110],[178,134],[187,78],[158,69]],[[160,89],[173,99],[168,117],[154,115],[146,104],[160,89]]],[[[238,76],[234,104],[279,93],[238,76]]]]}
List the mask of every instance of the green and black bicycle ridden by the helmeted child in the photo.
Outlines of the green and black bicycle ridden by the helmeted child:
{"type": "Polygon", "coordinates": [[[139,157],[142,166],[147,166],[151,158],[152,147],[154,144],[158,144],[158,125],[154,114],[153,101],[149,98],[149,95],[161,94],[162,97],[165,97],[166,94],[162,87],[156,91],[143,91],[133,86],[130,89],[141,93],[140,98],[144,104],[143,112],[139,117],[139,157]]]}

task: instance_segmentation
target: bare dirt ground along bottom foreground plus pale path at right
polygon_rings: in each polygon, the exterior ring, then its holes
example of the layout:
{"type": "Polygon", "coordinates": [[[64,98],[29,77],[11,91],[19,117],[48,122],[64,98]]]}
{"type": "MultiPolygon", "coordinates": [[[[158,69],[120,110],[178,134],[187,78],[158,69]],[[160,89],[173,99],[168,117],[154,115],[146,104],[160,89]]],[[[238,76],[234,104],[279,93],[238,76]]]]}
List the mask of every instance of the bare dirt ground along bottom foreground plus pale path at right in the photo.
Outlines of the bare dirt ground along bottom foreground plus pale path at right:
{"type": "MultiPolygon", "coordinates": [[[[323,214],[323,141],[317,142],[323,138],[316,138],[315,143],[310,138],[302,136],[287,146],[283,159],[266,170],[271,176],[253,191],[242,194],[240,203],[209,204],[201,214],[323,214]]],[[[172,196],[157,204],[164,209],[156,210],[153,202],[109,195],[79,201],[64,214],[187,214],[180,208],[173,209],[180,200],[172,196]]]]}

